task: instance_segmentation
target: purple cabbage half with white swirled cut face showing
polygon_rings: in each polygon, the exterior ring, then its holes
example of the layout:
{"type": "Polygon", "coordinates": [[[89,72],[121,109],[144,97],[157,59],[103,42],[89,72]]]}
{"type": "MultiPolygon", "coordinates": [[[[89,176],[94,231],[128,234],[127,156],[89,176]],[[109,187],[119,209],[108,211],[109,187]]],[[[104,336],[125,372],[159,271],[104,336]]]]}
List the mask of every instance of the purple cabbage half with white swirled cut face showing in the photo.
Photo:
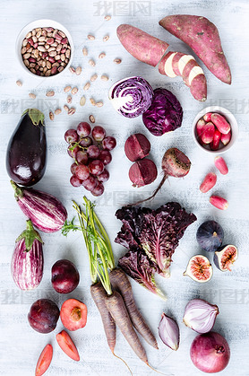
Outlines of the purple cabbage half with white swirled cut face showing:
{"type": "Polygon", "coordinates": [[[149,109],[153,90],[146,80],[139,76],[117,81],[109,90],[109,100],[125,118],[136,118],[149,109]]]}

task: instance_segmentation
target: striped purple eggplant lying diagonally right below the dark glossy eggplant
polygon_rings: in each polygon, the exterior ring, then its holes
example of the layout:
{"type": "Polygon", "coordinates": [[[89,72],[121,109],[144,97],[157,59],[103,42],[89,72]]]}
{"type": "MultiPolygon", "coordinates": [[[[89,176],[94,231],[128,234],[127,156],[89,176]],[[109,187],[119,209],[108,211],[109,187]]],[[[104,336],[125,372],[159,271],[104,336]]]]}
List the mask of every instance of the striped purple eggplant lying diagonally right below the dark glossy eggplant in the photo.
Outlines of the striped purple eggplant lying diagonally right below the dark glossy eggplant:
{"type": "Polygon", "coordinates": [[[64,205],[54,196],[40,190],[19,187],[13,180],[14,197],[22,212],[42,232],[57,232],[67,218],[64,205]]]}

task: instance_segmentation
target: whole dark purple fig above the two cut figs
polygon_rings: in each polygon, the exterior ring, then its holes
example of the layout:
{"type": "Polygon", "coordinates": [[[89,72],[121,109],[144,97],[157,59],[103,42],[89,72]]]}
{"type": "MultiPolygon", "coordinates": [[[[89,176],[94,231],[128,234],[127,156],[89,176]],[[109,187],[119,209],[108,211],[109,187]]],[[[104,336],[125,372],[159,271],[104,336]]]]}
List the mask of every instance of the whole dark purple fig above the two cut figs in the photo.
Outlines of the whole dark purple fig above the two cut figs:
{"type": "Polygon", "coordinates": [[[215,252],[222,244],[224,232],[219,223],[206,221],[201,224],[196,233],[196,240],[202,249],[215,252]]]}

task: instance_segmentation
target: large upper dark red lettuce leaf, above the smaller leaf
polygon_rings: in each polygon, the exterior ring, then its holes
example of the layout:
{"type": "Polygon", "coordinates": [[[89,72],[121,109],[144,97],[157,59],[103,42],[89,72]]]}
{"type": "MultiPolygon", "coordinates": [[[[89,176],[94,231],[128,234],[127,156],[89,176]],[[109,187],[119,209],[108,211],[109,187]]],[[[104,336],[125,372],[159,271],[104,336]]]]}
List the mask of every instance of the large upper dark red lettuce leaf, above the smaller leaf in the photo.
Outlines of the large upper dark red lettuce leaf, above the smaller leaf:
{"type": "MultiPolygon", "coordinates": [[[[196,221],[194,214],[186,213],[176,202],[161,205],[157,210],[141,206],[122,207],[117,210],[116,217],[123,222],[116,243],[141,252],[144,257],[146,254],[150,266],[165,277],[185,229],[196,221]]],[[[145,262],[145,258],[142,260],[145,262]]],[[[131,271],[129,275],[132,276],[131,271]]]]}

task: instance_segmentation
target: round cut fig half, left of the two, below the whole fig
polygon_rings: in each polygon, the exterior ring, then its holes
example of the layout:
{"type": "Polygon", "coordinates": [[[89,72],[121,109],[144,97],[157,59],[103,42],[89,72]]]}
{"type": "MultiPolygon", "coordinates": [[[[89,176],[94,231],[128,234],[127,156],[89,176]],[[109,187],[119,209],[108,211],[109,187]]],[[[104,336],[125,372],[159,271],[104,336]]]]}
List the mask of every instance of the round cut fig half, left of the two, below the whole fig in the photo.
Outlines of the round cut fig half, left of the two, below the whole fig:
{"type": "Polygon", "coordinates": [[[196,282],[208,282],[212,276],[210,260],[202,255],[190,258],[184,275],[190,276],[196,282]]]}

